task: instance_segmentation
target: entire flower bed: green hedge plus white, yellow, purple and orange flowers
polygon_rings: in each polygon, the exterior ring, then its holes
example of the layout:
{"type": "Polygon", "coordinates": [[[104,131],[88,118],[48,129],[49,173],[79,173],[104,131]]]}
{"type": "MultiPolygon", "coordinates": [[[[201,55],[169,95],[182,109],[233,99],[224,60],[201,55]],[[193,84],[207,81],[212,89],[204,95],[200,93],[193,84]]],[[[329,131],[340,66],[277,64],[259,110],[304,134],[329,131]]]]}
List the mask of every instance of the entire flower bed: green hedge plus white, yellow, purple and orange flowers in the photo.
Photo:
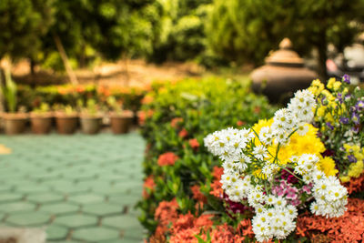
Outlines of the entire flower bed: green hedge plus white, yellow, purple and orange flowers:
{"type": "Polygon", "coordinates": [[[364,240],[364,91],[349,76],[315,80],[274,116],[250,113],[237,86],[176,86],[145,106],[147,242],[364,240]]]}

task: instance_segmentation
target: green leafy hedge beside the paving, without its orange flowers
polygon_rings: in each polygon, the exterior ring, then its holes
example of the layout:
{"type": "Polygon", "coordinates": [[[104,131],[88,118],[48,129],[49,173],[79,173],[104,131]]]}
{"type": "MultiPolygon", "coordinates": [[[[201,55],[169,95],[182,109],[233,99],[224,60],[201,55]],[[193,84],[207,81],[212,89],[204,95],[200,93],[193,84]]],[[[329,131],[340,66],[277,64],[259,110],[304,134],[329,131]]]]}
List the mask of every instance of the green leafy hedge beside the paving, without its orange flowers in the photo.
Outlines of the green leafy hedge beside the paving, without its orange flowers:
{"type": "Polygon", "coordinates": [[[155,84],[146,97],[153,101],[144,109],[153,114],[142,130],[148,144],[144,169],[146,177],[154,177],[156,187],[147,189],[148,196],[138,205],[143,210],[140,220],[151,234],[157,227],[155,210],[163,200],[176,197],[181,212],[199,212],[192,186],[200,186],[207,197],[201,210],[223,210],[222,202],[209,194],[211,171],[218,161],[203,146],[203,138],[223,127],[238,127],[238,121],[253,124],[271,116],[275,109],[265,97],[250,93],[247,86],[217,77],[155,84]],[[190,139],[196,139],[199,146],[192,147],[190,139]],[[173,166],[158,166],[158,157],[167,152],[179,159],[173,166]]]}

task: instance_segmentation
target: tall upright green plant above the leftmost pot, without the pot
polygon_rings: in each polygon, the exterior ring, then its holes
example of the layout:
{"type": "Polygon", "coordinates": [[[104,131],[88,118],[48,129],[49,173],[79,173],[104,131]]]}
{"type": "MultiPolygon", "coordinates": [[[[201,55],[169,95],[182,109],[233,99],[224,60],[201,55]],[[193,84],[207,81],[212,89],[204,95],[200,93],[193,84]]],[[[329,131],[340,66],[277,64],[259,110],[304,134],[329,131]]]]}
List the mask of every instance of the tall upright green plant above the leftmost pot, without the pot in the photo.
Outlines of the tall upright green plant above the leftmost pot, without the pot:
{"type": "MultiPolygon", "coordinates": [[[[0,73],[1,76],[1,73],[0,73]]],[[[16,92],[17,92],[17,88],[16,88],[16,84],[13,81],[10,71],[5,71],[5,84],[3,84],[3,82],[1,82],[2,80],[0,80],[1,83],[1,92],[3,94],[3,96],[5,97],[5,104],[6,104],[6,108],[7,111],[9,112],[15,112],[16,111],[16,106],[17,106],[17,97],[16,97],[16,92]]]]}

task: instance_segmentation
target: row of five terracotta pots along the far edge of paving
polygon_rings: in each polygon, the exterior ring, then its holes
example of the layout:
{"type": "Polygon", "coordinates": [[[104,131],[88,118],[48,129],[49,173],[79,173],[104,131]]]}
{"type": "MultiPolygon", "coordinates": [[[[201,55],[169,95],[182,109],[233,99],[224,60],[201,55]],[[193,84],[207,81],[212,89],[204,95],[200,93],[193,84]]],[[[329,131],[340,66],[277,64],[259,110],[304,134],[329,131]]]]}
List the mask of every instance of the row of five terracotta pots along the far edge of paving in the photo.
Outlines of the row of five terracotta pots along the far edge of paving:
{"type": "MultiPolygon", "coordinates": [[[[117,106],[118,107],[118,106],[117,106]]],[[[103,127],[106,119],[114,134],[123,134],[129,131],[132,125],[133,112],[115,108],[112,112],[102,112],[98,109],[95,100],[87,100],[85,107],[77,111],[72,106],[57,106],[52,111],[43,103],[39,108],[28,113],[3,113],[5,134],[15,135],[25,132],[28,120],[32,132],[35,134],[48,134],[52,130],[54,120],[59,134],[73,134],[78,123],[85,134],[96,134],[103,127]]]]}

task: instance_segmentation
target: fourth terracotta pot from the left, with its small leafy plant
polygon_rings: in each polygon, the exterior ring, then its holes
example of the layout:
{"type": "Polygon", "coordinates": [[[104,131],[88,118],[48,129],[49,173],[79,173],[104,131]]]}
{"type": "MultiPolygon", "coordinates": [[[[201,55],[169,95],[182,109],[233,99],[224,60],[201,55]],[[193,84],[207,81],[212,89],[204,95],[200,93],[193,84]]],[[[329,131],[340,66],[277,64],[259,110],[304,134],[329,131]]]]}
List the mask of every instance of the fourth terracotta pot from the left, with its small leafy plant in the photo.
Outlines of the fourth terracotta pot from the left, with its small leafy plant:
{"type": "Polygon", "coordinates": [[[96,134],[100,131],[102,116],[98,112],[95,99],[88,99],[80,114],[82,132],[96,134]]]}

